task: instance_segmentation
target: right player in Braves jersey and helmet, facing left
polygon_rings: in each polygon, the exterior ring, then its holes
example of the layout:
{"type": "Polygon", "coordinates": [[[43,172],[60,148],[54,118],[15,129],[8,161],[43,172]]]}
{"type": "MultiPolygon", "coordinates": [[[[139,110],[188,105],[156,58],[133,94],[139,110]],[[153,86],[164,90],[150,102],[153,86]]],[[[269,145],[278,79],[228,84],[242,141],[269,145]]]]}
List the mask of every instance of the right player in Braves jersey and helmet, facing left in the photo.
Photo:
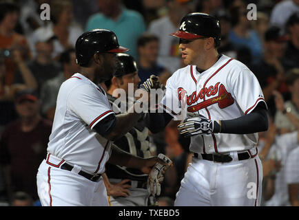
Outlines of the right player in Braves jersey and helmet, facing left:
{"type": "Polygon", "coordinates": [[[176,117],[185,104],[187,118],[178,131],[191,137],[194,152],[175,206],[260,204],[262,164],[256,144],[258,132],[268,127],[267,105],[250,69],[218,54],[220,31],[218,19],[196,12],[183,17],[172,34],[180,39],[187,66],[167,80],[161,106],[176,117]],[[167,104],[169,97],[180,102],[178,108],[167,104]]]}

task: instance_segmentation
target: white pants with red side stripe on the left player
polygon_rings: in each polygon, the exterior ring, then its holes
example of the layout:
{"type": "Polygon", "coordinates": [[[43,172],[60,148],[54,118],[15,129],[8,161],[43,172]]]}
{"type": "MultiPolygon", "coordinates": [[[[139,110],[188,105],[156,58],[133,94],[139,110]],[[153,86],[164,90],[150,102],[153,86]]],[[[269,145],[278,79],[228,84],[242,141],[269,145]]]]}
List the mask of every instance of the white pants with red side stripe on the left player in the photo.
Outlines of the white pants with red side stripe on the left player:
{"type": "Polygon", "coordinates": [[[45,160],[37,173],[37,191],[42,206],[109,206],[102,177],[90,181],[45,160]]]}

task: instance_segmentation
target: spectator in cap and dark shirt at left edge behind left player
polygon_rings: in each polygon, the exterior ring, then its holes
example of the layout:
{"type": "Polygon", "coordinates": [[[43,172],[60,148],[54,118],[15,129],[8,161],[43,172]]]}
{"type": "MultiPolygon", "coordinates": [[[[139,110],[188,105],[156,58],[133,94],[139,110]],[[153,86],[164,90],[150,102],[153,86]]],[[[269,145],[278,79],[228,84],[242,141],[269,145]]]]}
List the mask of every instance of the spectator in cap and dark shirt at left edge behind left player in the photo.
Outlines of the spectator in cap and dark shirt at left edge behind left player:
{"type": "Polygon", "coordinates": [[[12,199],[12,192],[21,190],[35,201],[39,199],[35,175],[45,157],[52,122],[39,114],[40,102],[36,91],[18,91],[14,100],[19,119],[6,126],[0,140],[0,164],[7,199],[12,199]]]}

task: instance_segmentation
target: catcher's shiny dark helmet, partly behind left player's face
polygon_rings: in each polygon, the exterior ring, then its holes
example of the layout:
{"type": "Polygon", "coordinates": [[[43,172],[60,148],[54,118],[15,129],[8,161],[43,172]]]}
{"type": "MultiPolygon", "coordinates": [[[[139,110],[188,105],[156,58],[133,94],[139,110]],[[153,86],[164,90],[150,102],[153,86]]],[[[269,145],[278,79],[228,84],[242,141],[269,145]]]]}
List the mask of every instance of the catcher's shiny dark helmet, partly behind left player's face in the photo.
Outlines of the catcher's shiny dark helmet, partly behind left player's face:
{"type": "Polygon", "coordinates": [[[129,54],[117,54],[116,57],[118,58],[118,67],[114,76],[123,76],[138,71],[137,64],[133,56],[129,54]]]}

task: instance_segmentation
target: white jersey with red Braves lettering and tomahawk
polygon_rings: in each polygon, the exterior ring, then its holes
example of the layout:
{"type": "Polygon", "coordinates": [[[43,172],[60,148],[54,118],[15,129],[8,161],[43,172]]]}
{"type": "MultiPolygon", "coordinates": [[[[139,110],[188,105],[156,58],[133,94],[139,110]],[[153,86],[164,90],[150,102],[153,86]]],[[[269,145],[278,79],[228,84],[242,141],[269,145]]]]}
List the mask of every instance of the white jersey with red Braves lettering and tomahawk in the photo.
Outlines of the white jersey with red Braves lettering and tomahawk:
{"type": "MultiPolygon", "coordinates": [[[[174,107],[174,102],[167,100],[169,97],[175,101],[185,98],[188,112],[204,115],[211,120],[239,118],[250,113],[259,102],[265,102],[256,76],[246,65],[225,55],[202,73],[196,70],[195,65],[178,69],[167,80],[166,88],[165,98],[161,102],[166,111],[181,111],[174,107]]],[[[257,142],[258,133],[196,135],[191,137],[190,151],[246,151],[255,148],[257,142]]],[[[255,155],[257,152],[249,153],[255,155]]]]}

